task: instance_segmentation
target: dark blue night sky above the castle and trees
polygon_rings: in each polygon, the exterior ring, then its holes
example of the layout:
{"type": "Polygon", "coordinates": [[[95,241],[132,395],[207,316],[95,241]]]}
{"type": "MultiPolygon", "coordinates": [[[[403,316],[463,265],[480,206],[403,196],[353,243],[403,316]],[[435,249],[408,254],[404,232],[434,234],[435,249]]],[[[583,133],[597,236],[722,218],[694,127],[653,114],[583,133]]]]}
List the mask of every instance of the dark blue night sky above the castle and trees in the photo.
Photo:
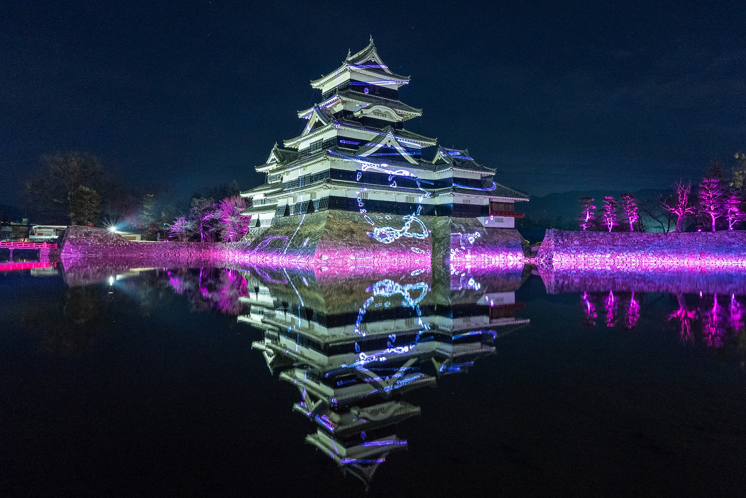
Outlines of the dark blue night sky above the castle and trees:
{"type": "MultiPolygon", "coordinates": [[[[309,81],[374,37],[405,124],[533,195],[665,187],[746,149],[746,2],[5,1],[0,204],[85,151],[184,198],[297,136],[309,81]]],[[[433,152],[426,151],[429,159],[433,152]]]]}

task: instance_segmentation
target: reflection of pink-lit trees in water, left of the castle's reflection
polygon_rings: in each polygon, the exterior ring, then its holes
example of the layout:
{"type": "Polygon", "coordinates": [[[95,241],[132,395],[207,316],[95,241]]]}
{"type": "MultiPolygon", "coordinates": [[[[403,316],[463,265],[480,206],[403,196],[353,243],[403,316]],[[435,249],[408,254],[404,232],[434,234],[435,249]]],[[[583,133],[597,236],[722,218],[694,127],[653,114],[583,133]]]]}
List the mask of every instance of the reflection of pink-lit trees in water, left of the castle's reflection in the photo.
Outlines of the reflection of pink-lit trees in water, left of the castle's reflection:
{"type": "Polygon", "coordinates": [[[218,309],[227,315],[239,315],[243,304],[239,297],[248,296],[246,279],[228,268],[178,269],[168,272],[169,285],[177,294],[189,299],[192,311],[218,309]]]}

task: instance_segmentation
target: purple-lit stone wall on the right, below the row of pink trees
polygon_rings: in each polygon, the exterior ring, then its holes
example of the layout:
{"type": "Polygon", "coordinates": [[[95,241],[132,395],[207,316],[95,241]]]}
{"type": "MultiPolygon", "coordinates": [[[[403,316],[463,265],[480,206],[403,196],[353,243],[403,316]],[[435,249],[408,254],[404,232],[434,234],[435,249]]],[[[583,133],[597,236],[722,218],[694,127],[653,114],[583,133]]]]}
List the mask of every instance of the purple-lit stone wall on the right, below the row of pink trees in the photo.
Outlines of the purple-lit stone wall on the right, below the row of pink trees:
{"type": "Polygon", "coordinates": [[[746,265],[746,232],[570,232],[547,230],[540,265],[746,265]]]}

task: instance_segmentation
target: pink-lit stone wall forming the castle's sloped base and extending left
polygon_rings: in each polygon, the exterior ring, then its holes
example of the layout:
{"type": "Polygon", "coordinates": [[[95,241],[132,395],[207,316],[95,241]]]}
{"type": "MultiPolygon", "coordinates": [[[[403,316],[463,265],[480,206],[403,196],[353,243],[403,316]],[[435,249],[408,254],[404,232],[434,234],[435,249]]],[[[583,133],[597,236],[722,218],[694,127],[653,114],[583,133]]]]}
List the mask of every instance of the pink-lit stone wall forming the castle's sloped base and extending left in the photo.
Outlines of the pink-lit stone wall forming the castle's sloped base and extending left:
{"type": "MultiPolygon", "coordinates": [[[[242,242],[134,242],[102,228],[69,227],[60,259],[116,257],[283,265],[392,265],[430,262],[495,264],[523,259],[513,229],[485,228],[476,218],[411,217],[327,210],[275,219],[251,229],[242,242]]],[[[146,264],[143,262],[143,264],[146,264]]]]}

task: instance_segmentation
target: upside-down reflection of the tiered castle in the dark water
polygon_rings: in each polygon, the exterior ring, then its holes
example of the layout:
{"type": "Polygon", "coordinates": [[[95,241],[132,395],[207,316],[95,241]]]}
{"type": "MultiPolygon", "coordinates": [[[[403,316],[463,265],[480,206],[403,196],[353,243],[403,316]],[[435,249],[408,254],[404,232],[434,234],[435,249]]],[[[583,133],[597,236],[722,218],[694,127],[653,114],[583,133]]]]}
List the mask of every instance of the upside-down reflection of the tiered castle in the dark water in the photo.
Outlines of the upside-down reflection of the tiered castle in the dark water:
{"type": "Polygon", "coordinates": [[[368,484],[407,447],[397,424],[420,409],[404,393],[468,371],[499,337],[527,327],[515,318],[522,277],[520,266],[354,278],[255,268],[238,319],[263,330],[253,347],[298,388],[293,409],[316,425],[307,443],[368,484]]]}

